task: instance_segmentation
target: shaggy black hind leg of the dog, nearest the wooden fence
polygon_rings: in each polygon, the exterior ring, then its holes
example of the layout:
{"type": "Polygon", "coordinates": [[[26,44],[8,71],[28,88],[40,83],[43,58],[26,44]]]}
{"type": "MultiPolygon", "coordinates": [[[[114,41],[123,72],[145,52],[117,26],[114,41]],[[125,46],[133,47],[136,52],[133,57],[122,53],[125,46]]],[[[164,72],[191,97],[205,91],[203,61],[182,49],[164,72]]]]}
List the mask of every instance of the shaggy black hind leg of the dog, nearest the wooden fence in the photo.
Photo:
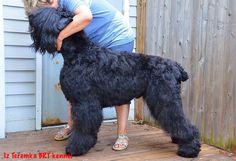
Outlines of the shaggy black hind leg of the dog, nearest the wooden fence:
{"type": "Polygon", "coordinates": [[[199,132],[183,113],[180,84],[157,80],[148,87],[144,99],[152,116],[179,145],[178,155],[197,157],[201,147],[199,132]]]}

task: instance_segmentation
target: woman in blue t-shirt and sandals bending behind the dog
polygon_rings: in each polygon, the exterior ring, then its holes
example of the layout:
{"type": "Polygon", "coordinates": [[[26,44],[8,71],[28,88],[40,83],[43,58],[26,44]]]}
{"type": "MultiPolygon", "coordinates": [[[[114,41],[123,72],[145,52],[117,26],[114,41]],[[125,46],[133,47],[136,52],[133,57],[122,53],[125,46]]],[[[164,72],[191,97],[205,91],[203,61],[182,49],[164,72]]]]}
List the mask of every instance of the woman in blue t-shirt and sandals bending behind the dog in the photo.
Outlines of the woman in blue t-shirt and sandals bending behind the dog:
{"type": "MultiPolygon", "coordinates": [[[[73,21],[64,28],[57,39],[57,50],[60,51],[63,39],[84,30],[87,36],[103,47],[114,51],[132,52],[134,35],[123,15],[106,0],[24,0],[27,14],[42,6],[60,7],[75,14],[73,21]]],[[[124,150],[128,146],[127,121],[129,105],[116,106],[117,140],[114,150],[124,150]]],[[[65,140],[71,134],[73,126],[71,105],[68,105],[68,125],[57,133],[55,140],[65,140]]]]}

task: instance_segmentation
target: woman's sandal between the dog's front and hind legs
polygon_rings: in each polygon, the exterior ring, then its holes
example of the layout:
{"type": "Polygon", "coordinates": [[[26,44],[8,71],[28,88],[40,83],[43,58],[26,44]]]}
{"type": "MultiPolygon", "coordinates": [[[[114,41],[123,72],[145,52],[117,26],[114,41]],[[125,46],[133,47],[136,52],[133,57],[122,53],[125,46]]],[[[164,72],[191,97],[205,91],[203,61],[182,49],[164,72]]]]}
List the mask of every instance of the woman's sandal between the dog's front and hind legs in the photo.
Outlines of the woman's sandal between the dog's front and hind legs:
{"type": "Polygon", "coordinates": [[[129,141],[129,138],[127,135],[120,134],[118,135],[117,140],[115,144],[113,145],[112,149],[116,151],[125,150],[128,147],[128,141],[129,141]]]}

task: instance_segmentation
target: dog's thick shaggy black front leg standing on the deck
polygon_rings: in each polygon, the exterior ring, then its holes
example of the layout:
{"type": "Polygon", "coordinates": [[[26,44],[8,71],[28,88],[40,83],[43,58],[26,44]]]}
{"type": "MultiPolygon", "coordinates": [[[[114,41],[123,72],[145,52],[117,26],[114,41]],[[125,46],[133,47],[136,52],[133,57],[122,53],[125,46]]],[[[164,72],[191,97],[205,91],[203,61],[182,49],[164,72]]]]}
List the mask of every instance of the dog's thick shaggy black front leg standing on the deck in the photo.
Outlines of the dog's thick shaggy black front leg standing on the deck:
{"type": "Polygon", "coordinates": [[[78,156],[87,153],[97,142],[102,123],[102,109],[94,100],[72,104],[73,131],[66,153],[78,156]]]}

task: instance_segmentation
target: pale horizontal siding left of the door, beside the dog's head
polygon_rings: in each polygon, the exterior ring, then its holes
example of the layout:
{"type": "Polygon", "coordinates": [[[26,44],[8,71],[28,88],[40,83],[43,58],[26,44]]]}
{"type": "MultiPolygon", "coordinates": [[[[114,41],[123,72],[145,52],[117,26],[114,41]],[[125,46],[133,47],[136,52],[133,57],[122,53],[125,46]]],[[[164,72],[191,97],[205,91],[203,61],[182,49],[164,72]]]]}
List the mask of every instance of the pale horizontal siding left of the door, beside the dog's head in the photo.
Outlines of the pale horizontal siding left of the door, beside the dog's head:
{"type": "Polygon", "coordinates": [[[36,59],[23,3],[3,0],[6,132],[35,130],[36,59]]]}

